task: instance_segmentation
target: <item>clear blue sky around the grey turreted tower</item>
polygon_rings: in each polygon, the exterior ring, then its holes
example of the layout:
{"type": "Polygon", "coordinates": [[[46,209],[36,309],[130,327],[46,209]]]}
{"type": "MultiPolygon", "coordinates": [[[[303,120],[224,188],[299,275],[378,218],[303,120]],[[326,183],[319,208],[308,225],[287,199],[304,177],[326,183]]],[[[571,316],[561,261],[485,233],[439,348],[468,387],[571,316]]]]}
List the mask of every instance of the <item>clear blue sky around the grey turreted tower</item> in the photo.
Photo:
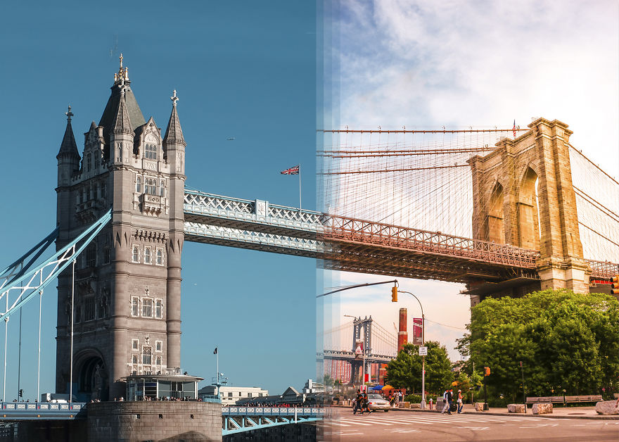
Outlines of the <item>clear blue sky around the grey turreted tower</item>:
{"type": "MultiPolygon", "coordinates": [[[[150,1],[1,6],[8,264],[56,223],[56,153],[71,104],[78,148],[103,113],[118,69],[148,120],[165,130],[177,89],[186,184],[201,191],[315,208],[316,13],[311,1],[150,1]],[[111,51],[111,53],[110,53],[111,51]],[[234,141],[227,141],[234,137],[234,141]]],[[[309,258],[186,243],[181,364],[191,374],[281,393],[315,373],[316,263],[309,258]]],[[[44,295],[41,391],[53,391],[56,289],[44,295]]],[[[36,395],[38,303],[23,312],[22,383],[36,395]]],[[[3,327],[4,328],[4,327],[3,327]]],[[[1,332],[4,337],[4,331],[1,332]]],[[[17,390],[18,315],[9,322],[6,397],[17,390]]]]}

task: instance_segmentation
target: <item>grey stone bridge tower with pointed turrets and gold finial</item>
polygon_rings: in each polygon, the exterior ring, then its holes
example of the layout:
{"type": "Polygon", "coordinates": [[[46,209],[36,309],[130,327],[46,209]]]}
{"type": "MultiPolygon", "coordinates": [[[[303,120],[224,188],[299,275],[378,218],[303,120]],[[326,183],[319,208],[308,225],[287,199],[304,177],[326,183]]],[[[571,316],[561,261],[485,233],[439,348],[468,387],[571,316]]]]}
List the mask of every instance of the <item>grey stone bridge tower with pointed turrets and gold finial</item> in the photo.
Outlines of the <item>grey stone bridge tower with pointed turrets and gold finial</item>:
{"type": "Polygon", "coordinates": [[[122,377],[180,367],[185,146],[174,91],[165,135],[142,115],[122,66],[77,151],[69,108],[58,152],[56,248],[112,209],[112,222],[58,278],[56,391],[125,396],[122,377]],[[72,308],[71,299],[75,299],[72,308]]]}

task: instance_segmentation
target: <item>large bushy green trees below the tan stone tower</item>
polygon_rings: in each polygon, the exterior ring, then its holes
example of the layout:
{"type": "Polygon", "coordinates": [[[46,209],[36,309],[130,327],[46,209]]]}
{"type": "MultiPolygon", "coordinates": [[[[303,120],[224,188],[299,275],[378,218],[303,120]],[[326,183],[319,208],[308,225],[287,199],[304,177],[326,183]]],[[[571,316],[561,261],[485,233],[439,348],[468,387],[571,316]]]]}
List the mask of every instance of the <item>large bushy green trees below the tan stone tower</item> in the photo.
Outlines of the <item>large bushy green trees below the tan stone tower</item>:
{"type": "Polygon", "coordinates": [[[617,390],[619,302],[601,293],[546,290],[487,298],[471,308],[459,341],[468,371],[490,367],[487,385],[515,399],[617,390]],[[521,368],[522,361],[522,368],[521,368]]]}

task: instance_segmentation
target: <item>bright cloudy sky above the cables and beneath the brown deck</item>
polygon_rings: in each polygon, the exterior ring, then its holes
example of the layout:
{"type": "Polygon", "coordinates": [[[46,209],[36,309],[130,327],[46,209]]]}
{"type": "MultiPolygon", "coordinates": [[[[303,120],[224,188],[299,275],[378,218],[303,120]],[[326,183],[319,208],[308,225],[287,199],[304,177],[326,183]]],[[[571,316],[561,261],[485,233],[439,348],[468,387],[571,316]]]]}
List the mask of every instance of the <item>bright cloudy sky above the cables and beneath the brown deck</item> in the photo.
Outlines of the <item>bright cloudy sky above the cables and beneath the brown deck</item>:
{"type": "MultiPolygon", "coordinates": [[[[461,129],[558,119],[574,131],[573,146],[619,176],[617,1],[343,1],[326,15],[334,103],[326,125],[461,129]]],[[[327,273],[326,286],[381,280],[327,273]]],[[[419,294],[430,320],[456,327],[429,322],[426,339],[457,359],[454,339],[469,320],[464,287],[400,286],[419,294]]],[[[344,293],[324,307],[326,322],[371,313],[393,330],[398,308],[418,309],[414,300],[392,305],[384,287],[344,293]]]]}

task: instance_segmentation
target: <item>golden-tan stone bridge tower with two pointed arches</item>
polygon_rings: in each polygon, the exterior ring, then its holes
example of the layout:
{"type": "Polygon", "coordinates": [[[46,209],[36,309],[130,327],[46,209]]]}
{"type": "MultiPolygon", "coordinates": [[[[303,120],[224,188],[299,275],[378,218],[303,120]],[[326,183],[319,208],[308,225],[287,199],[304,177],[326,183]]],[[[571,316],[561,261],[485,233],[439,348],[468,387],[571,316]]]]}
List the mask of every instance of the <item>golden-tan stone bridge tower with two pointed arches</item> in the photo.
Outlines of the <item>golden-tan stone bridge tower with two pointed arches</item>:
{"type": "Polygon", "coordinates": [[[528,127],[469,160],[473,236],[540,251],[541,289],[588,293],[568,151],[572,131],[544,118],[528,127]]]}

